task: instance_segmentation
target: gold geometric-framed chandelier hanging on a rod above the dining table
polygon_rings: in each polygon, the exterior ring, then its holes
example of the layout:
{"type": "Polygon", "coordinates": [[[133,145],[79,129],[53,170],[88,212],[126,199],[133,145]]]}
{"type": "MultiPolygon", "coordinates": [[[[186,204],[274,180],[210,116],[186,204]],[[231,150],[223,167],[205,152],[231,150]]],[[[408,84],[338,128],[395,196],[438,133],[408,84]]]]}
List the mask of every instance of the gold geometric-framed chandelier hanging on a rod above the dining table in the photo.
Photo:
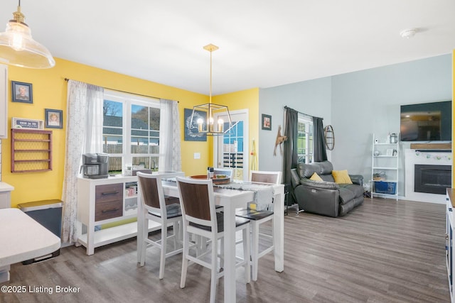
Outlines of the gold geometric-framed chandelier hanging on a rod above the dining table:
{"type": "Polygon", "coordinates": [[[204,46],[204,50],[210,52],[210,94],[208,103],[193,106],[190,125],[198,125],[198,134],[203,136],[220,136],[228,133],[232,128],[228,106],[212,103],[212,53],[218,50],[218,46],[209,44],[204,46]],[[228,121],[223,119],[215,121],[215,115],[226,116],[228,121]]]}

